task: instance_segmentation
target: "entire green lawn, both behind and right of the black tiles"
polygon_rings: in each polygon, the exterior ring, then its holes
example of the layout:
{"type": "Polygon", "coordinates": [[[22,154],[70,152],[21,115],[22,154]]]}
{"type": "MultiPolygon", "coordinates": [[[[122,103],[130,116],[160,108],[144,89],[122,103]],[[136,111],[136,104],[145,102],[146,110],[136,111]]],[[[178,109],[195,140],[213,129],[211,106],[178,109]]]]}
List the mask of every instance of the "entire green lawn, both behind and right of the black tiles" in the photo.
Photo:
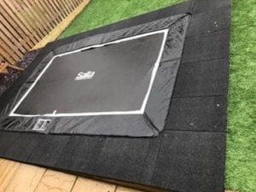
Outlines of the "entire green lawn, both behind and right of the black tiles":
{"type": "MultiPolygon", "coordinates": [[[[180,0],[92,0],[60,38],[180,0]]],[[[256,192],[256,1],[233,0],[225,188],[256,192]]]]}

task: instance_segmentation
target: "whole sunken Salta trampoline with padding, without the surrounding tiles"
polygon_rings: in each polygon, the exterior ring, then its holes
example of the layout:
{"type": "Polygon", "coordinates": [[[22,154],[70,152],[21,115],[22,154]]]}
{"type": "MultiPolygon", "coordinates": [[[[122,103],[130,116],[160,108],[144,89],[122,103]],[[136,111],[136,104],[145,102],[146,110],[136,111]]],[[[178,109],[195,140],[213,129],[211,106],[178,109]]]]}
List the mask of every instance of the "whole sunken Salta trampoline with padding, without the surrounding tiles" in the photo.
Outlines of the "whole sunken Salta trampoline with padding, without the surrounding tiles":
{"type": "Polygon", "coordinates": [[[189,18],[166,17],[53,49],[6,108],[2,127],[158,136],[166,125],[189,18]]]}

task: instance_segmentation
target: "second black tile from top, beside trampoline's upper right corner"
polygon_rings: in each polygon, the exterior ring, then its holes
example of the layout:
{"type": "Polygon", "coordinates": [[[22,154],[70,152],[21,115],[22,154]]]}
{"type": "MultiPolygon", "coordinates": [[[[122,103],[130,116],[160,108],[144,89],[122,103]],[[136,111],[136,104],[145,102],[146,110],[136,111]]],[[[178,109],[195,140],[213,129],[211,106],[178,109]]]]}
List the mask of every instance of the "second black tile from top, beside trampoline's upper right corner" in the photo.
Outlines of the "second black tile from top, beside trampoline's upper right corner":
{"type": "Polygon", "coordinates": [[[193,15],[187,36],[216,32],[229,27],[230,9],[226,7],[212,9],[208,12],[193,15]]]}

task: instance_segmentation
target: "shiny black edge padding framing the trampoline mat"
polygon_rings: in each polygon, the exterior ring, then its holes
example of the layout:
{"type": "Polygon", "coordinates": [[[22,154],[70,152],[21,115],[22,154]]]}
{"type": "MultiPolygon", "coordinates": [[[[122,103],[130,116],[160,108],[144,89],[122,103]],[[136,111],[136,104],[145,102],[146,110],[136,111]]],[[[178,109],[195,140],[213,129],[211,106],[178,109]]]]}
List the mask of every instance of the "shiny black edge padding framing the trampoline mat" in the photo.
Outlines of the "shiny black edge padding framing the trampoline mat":
{"type": "MultiPolygon", "coordinates": [[[[172,90],[177,78],[177,71],[183,54],[183,43],[190,15],[174,15],[161,20],[144,23],[139,26],[131,26],[114,32],[98,34],[88,38],[82,38],[69,44],[64,44],[46,55],[38,63],[38,67],[26,80],[16,96],[4,108],[0,119],[0,129],[5,131],[35,131],[33,127],[38,119],[49,119],[50,123],[44,131],[47,134],[84,134],[96,136],[119,137],[156,137],[166,125],[166,117],[172,100],[172,90]],[[15,114],[15,109],[32,89],[32,84],[44,73],[50,61],[58,55],[66,55],[72,51],[90,49],[113,44],[122,39],[135,38],[166,32],[164,46],[160,52],[151,78],[148,98],[144,101],[143,110],[136,113],[92,113],[89,116],[63,115],[56,116],[55,112],[48,115],[22,116],[15,114]],[[150,92],[150,93],[149,93],[150,92]],[[24,97],[24,98],[23,98],[24,97]]],[[[85,51],[86,52],[86,51],[85,51]]]]}

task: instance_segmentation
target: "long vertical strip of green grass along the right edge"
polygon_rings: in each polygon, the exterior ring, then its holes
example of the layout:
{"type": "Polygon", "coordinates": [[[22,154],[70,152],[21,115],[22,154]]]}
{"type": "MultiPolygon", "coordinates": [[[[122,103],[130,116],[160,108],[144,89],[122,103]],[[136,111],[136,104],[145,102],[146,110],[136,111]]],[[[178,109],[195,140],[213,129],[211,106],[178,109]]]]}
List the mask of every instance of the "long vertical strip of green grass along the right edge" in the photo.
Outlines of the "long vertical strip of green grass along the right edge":
{"type": "Polygon", "coordinates": [[[256,191],[256,1],[233,0],[225,186],[256,191]]]}

